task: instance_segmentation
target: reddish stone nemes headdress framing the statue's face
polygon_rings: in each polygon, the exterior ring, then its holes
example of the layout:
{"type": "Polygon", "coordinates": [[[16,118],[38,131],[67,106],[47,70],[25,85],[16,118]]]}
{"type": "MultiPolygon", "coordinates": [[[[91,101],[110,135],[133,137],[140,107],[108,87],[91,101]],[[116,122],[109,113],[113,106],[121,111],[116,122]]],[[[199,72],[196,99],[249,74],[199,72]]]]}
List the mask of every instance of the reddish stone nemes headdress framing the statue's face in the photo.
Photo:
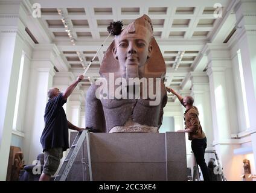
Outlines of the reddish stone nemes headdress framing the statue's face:
{"type": "MultiPolygon", "coordinates": [[[[118,39],[118,36],[121,36],[124,33],[135,33],[138,31],[138,28],[145,28],[146,33],[150,34],[151,37],[151,45],[152,45],[152,55],[150,59],[147,61],[145,76],[146,77],[164,77],[166,72],[166,66],[164,62],[164,58],[162,57],[162,53],[159,49],[158,43],[153,37],[153,27],[152,22],[149,16],[144,14],[142,17],[139,17],[131,24],[129,24],[124,30],[121,31],[121,34],[115,36],[115,40],[118,39]]],[[[100,75],[101,77],[107,77],[107,74],[110,72],[115,73],[119,72],[120,65],[118,60],[114,58],[112,53],[113,48],[115,47],[115,40],[110,44],[109,48],[107,48],[106,53],[104,54],[101,66],[100,66],[100,75]]]]}

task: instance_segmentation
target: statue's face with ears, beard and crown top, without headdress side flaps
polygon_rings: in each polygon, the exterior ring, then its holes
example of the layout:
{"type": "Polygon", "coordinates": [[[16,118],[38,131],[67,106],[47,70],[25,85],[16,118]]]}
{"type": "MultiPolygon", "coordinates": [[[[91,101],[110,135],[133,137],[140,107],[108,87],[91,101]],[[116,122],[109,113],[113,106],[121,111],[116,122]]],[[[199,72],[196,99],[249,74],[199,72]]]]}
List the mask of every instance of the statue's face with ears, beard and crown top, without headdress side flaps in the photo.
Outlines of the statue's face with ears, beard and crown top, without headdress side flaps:
{"type": "Polygon", "coordinates": [[[112,49],[120,65],[121,75],[126,78],[139,77],[152,54],[153,28],[149,17],[144,16],[129,24],[115,37],[112,49]]]}

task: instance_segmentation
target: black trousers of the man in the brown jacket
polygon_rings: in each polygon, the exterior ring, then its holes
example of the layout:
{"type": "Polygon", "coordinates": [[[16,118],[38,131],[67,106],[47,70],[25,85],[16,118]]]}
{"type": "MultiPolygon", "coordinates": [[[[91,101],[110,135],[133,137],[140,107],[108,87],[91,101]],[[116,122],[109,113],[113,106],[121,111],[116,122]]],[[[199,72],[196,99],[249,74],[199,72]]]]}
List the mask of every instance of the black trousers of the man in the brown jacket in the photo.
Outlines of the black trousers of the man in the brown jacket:
{"type": "Polygon", "coordinates": [[[203,173],[203,180],[210,181],[209,174],[208,174],[208,167],[205,163],[205,149],[207,140],[206,138],[203,139],[193,139],[191,141],[191,148],[194,153],[194,157],[196,157],[197,165],[200,166],[201,171],[203,173]]]}

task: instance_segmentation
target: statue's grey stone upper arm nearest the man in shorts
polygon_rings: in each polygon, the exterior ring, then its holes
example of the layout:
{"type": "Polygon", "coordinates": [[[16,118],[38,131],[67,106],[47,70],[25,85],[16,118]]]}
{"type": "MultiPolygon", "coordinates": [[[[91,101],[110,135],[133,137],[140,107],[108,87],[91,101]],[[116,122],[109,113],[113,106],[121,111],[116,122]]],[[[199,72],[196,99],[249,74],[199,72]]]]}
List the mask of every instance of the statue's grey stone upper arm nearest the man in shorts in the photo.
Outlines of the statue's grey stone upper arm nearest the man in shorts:
{"type": "Polygon", "coordinates": [[[97,86],[92,84],[86,93],[86,121],[89,131],[106,133],[106,121],[101,101],[95,96],[97,86]]]}

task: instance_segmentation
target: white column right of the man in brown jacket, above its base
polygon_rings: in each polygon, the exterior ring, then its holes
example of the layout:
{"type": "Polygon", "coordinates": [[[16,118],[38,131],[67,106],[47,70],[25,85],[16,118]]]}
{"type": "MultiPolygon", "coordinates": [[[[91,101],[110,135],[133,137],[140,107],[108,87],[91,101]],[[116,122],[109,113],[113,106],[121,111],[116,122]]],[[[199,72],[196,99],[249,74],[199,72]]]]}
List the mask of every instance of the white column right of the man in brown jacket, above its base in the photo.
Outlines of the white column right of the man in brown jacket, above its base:
{"type": "Polygon", "coordinates": [[[238,131],[237,107],[229,50],[224,45],[208,45],[208,69],[214,141],[231,138],[238,131]]]}

